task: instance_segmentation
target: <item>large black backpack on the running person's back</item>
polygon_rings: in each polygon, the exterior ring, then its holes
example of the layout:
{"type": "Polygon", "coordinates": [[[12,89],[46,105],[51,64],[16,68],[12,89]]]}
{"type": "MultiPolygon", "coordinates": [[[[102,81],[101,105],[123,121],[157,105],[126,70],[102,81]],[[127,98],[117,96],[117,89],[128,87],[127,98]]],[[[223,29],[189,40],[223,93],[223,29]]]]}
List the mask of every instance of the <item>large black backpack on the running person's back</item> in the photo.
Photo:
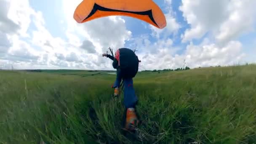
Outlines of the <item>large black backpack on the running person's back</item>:
{"type": "Polygon", "coordinates": [[[129,48],[119,48],[119,68],[123,78],[133,78],[139,70],[138,56],[129,48]]]}

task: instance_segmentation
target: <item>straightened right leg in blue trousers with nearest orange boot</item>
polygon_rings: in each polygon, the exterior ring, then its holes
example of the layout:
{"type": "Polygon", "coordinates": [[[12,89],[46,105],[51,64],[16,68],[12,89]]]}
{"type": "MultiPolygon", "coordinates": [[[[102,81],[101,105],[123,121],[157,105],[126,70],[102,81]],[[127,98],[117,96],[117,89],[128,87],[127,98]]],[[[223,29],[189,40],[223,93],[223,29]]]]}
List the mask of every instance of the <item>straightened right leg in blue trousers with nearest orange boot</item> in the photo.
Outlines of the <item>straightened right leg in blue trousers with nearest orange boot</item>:
{"type": "Polygon", "coordinates": [[[133,130],[133,126],[137,126],[138,118],[136,115],[135,107],[138,102],[138,98],[133,88],[133,79],[124,79],[124,105],[126,110],[125,128],[129,131],[133,130]]]}

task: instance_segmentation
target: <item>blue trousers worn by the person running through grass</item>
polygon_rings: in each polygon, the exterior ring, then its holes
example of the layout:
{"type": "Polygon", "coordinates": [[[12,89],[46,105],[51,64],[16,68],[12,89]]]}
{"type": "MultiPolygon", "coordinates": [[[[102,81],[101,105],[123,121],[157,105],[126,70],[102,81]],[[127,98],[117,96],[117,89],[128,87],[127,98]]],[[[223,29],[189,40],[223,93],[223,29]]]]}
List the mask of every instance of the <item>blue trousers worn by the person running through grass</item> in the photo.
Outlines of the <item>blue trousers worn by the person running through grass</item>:
{"type": "MultiPolygon", "coordinates": [[[[122,81],[121,71],[117,70],[117,77],[113,88],[119,88],[120,83],[122,81]]],[[[133,88],[133,79],[132,78],[123,78],[124,84],[124,105],[125,108],[135,108],[138,98],[135,94],[135,90],[133,88]]]]}

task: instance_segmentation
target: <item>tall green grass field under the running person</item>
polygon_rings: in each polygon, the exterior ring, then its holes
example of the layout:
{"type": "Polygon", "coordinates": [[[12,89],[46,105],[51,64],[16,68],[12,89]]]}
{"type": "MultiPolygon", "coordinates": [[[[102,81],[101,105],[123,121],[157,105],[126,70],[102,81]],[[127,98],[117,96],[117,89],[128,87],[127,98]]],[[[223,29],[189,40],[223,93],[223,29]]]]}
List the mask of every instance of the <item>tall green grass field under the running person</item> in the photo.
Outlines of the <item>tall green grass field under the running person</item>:
{"type": "Polygon", "coordinates": [[[0,144],[256,144],[256,65],[140,72],[139,139],[122,134],[115,75],[0,71],[0,144]]]}

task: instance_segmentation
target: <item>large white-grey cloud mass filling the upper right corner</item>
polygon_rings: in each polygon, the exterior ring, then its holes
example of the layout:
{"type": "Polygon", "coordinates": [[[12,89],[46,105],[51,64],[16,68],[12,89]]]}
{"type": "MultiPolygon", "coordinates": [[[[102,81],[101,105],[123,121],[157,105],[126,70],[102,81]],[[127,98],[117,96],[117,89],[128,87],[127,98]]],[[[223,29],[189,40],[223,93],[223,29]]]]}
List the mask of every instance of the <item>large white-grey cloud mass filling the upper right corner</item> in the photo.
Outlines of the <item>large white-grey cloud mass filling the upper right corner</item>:
{"type": "Polygon", "coordinates": [[[182,0],[180,10],[191,28],[182,41],[203,37],[210,32],[219,43],[228,43],[253,28],[255,0],[182,0]]]}

